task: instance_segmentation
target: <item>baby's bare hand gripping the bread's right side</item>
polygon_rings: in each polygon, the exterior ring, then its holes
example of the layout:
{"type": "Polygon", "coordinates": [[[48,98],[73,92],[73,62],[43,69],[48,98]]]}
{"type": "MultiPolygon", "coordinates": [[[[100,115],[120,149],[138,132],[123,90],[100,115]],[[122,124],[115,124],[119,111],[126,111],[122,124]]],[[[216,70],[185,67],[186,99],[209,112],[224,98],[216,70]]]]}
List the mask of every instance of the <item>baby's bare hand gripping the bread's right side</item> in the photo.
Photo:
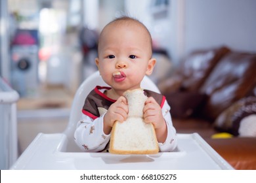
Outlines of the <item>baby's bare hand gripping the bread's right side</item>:
{"type": "Polygon", "coordinates": [[[152,123],[155,129],[165,127],[165,120],[161,113],[161,107],[153,97],[148,97],[143,112],[144,122],[152,123]]]}

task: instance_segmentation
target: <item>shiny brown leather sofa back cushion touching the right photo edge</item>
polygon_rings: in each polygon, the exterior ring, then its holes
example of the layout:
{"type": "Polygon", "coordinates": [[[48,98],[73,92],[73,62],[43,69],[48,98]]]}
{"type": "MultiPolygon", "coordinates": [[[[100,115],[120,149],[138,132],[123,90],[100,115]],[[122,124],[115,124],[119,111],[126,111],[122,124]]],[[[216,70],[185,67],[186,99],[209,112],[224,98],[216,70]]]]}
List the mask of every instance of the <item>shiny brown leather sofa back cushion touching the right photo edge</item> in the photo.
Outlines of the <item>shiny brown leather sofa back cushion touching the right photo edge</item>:
{"type": "Polygon", "coordinates": [[[215,66],[205,80],[201,93],[208,100],[203,114],[215,120],[232,103],[245,97],[256,85],[256,54],[230,52],[215,66]]]}

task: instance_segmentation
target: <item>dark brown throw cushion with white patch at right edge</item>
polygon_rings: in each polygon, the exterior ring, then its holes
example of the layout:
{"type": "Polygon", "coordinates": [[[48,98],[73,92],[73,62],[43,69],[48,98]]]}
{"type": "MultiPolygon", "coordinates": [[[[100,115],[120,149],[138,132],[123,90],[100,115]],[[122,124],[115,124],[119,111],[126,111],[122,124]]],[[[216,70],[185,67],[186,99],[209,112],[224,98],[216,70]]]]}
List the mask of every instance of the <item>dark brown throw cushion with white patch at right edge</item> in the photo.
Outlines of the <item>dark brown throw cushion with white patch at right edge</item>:
{"type": "Polygon", "coordinates": [[[215,120],[219,131],[256,137],[256,97],[245,97],[224,110],[215,120]]]}

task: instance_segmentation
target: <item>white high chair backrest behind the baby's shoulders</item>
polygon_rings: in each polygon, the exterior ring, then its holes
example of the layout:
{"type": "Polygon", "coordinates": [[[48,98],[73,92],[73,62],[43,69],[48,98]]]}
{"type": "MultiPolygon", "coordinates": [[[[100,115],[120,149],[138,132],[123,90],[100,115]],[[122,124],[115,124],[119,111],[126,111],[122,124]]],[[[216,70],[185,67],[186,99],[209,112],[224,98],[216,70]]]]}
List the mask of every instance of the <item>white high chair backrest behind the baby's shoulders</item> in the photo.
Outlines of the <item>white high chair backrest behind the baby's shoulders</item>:
{"type": "MultiPolygon", "coordinates": [[[[79,148],[76,146],[74,142],[74,132],[75,132],[75,127],[77,125],[77,122],[81,120],[81,110],[83,108],[85,98],[87,95],[95,88],[95,86],[108,86],[104,80],[102,80],[102,77],[100,76],[99,72],[96,71],[93,73],[93,75],[89,76],[87,79],[83,81],[83,83],[79,86],[77,89],[77,92],[75,93],[74,100],[72,103],[72,107],[70,110],[70,119],[68,122],[68,126],[66,127],[64,133],[68,137],[68,147],[67,151],[68,152],[76,152],[76,151],[81,151],[79,148]]],[[[148,89],[152,90],[154,92],[160,93],[160,90],[148,78],[148,76],[144,76],[142,82],[141,82],[141,88],[143,89],[148,89]]]]}

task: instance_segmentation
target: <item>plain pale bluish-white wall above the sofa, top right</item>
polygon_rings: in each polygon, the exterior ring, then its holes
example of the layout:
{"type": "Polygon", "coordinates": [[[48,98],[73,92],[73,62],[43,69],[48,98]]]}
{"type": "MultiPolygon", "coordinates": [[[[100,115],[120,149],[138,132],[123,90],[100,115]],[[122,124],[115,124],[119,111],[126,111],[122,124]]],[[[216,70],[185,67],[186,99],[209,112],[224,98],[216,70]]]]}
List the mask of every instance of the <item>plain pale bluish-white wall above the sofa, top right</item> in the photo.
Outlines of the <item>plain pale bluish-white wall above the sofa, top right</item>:
{"type": "Polygon", "coordinates": [[[256,52],[255,0],[186,0],[184,53],[226,45],[256,52]]]}

